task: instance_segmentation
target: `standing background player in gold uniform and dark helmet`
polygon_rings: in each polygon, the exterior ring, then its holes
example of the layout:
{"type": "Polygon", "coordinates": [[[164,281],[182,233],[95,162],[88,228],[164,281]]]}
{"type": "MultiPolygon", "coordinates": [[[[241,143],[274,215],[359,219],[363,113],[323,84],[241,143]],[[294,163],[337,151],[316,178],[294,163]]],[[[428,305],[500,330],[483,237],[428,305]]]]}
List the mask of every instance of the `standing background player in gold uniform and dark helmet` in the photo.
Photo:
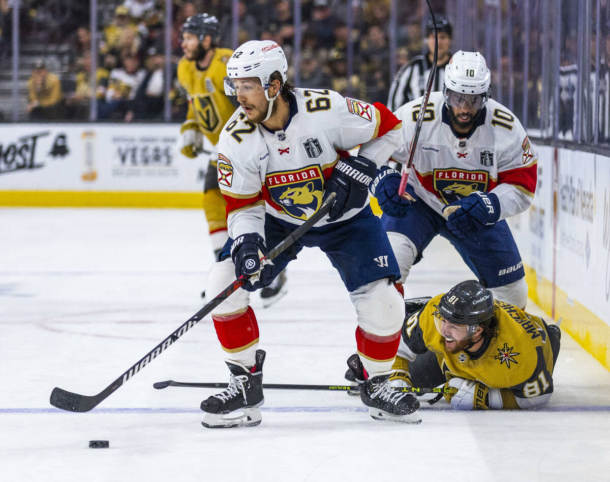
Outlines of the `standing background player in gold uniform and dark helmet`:
{"type": "MultiPolygon", "coordinates": [[[[184,57],[178,63],[178,82],[188,94],[187,119],[181,127],[181,152],[188,158],[203,153],[203,136],[216,145],[235,106],[224,95],[223,79],[231,49],[217,46],[218,20],[207,13],[187,18],[182,26],[184,57]]],[[[210,156],[204,183],[203,209],[215,254],[228,238],[226,203],[216,178],[217,153],[210,156]]]]}

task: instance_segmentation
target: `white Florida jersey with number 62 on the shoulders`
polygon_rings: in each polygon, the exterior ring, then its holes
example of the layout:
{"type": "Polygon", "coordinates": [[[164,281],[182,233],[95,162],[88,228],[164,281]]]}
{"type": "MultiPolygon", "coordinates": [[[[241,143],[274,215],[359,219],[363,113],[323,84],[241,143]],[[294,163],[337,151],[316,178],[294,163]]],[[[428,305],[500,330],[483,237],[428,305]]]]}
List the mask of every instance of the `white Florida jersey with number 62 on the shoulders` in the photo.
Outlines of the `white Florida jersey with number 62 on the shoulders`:
{"type": "MultiPolygon", "coordinates": [[[[400,146],[400,121],[382,104],[371,105],[329,90],[296,89],[283,130],[249,122],[242,108],[224,126],[218,142],[218,184],[227,201],[229,235],[264,232],[265,211],[302,224],[320,208],[339,156],[362,145],[368,159],[386,161],[400,146]]],[[[344,221],[361,209],[351,209],[344,221]]],[[[328,223],[323,220],[317,226],[328,223]]]]}

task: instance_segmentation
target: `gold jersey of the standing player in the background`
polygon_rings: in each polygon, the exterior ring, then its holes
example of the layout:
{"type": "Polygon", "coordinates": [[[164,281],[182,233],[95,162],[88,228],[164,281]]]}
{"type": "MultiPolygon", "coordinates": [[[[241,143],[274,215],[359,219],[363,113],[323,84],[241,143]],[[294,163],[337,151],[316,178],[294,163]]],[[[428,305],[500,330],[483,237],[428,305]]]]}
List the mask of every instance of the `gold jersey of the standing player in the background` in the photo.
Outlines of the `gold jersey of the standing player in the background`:
{"type": "Polygon", "coordinates": [[[213,145],[235,106],[224,94],[223,80],[231,49],[217,48],[206,70],[199,70],[195,60],[182,58],[178,63],[178,82],[188,93],[187,120],[193,119],[213,145]]]}

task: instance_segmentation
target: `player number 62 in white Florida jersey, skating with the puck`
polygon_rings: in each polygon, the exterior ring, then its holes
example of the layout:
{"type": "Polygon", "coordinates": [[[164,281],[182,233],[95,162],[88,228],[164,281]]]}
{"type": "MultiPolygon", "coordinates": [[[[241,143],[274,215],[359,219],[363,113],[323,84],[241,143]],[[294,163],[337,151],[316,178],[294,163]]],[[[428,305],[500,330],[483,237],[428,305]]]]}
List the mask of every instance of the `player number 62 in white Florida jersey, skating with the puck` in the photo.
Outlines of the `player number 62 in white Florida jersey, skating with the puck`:
{"type": "MultiPolygon", "coordinates": [[[[230,239],[210,269],[206,292],[219,293],[242,274],[250,278],[212,311],[231,380],[226,390],[201,402],[202,423],[210,428],[260,423],[265,352],[258,349],[249,293],[269,284],[304,246],[326,253],[356,308],[361,399],[371,416],[420,422],[415,397],[388,381],[404,304],[393,287],[400,271],[392,248],[368,206],[376,159],[381,165],[400,146],[400,121],[381,104],[294,88],[287,69],[284,52],[273,41],[246,42],[227,63],[225,91],[241,106],[218,142],[218,184],[227,201],[230,239]],[[375,138],[386,142],[370,145],[375,138]],[[350,156],[347,151],[359,144],[359,155],[350,156]],[[337,197],[328,218],[273,264],[261,263],[267,246],[301,225],[329,192],[337,197]]],[[[293,336],[297,340],[300,334],[293,336]]]]}

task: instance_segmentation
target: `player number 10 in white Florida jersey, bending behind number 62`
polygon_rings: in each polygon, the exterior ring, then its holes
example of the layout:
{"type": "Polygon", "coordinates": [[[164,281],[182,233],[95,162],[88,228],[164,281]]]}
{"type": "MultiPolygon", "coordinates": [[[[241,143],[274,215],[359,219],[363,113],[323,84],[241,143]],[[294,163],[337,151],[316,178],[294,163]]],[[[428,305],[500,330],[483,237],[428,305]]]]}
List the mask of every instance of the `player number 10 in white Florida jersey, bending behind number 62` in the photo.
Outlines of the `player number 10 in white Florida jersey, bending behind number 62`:
{"type": "MultiPolygon", "coordinates": [[[[456,52],[445,69],[443,91],[430,94],[423,117],[407,184],[412,200],[398,197],[400,173],[387,166],[371,192],[384,212],[401,282],[440,234],[495,298],[523,309],[525,272],[505,219],[531,204],[537,159],[519,119],[489,99],[490,77],[479,52],[456,52]]],[[[395,113],[403,121],[395,161],[407,160],[421,102],[413,100],[395,113]]]]}

